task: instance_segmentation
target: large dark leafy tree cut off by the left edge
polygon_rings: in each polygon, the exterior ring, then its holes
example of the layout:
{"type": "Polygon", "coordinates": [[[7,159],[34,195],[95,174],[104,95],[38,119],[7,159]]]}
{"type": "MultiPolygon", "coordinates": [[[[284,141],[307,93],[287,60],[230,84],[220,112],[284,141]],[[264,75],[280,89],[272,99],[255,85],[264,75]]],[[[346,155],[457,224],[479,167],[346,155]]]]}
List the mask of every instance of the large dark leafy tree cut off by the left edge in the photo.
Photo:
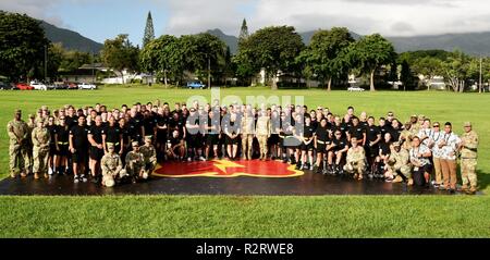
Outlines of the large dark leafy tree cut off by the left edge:
{"type": "Polygon", "coordinates": [[[39,21],[0,11],[0,72],[4,76],[28,79],[29,72],[42,67],[48,46],[39,21]]]}

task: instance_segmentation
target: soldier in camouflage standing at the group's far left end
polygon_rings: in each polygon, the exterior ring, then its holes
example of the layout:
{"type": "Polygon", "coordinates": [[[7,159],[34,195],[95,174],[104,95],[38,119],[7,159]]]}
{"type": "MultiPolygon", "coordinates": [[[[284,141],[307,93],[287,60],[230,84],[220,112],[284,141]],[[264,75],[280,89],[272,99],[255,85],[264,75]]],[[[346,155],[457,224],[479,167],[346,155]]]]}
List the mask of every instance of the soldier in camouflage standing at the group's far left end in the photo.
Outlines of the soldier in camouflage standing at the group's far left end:
{"type": "Polygon", "coordinates": [[[28,160],[24,152],[26,149],[28,127],[22,120],[22,111],[16,110],[14,119],[7,124],[7,132],[9,135],[9,170],[12,178],[16,177],[19,173],[21,176],[26,176],[25,161],[28,160]]]}

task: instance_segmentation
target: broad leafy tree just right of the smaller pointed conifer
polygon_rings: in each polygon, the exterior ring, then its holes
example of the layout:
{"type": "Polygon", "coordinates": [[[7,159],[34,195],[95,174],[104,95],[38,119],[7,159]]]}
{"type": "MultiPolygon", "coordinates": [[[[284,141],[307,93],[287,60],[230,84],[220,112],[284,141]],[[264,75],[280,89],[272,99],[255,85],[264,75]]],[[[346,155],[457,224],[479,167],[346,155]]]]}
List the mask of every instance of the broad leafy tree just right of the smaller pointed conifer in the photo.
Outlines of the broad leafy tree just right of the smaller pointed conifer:
{"type": "Polygon", "coordinates": [[[237,62],[258,73],[266,70],[273,77],[272,89],[278,89],[275,77],[280,71],[297,69],[296,57],[304,49],[302,37],[292,26],[271,26],[257,30],[238,46],[237,62]]]}

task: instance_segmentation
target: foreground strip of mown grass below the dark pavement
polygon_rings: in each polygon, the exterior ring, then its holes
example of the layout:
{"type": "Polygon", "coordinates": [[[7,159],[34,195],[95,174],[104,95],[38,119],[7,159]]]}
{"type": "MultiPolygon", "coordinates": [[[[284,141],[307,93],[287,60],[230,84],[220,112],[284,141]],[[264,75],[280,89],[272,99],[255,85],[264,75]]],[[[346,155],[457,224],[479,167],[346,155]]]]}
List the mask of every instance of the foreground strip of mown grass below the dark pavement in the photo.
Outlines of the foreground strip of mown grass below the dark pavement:
{"type": "Polygon", "coordinates": [[[3,197],[1,237],[489,237],[490,198],[3,197]]]}

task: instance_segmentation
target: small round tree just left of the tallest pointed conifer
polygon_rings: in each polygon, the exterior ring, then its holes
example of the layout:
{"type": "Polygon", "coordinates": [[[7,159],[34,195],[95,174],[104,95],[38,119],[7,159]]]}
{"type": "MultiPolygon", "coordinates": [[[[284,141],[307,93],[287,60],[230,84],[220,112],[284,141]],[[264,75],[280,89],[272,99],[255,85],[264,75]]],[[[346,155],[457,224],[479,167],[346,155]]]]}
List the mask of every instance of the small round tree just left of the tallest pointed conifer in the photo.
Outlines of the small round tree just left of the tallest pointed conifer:
{"type": "Polygon", "coordinates": [[[124,83],[123,71],[135,72],[138,70],[139,49],[127,39],[127,35],[119,35],[115,39],[103,42],[102,60],[107,66],[121,75],[124,83]]]}

